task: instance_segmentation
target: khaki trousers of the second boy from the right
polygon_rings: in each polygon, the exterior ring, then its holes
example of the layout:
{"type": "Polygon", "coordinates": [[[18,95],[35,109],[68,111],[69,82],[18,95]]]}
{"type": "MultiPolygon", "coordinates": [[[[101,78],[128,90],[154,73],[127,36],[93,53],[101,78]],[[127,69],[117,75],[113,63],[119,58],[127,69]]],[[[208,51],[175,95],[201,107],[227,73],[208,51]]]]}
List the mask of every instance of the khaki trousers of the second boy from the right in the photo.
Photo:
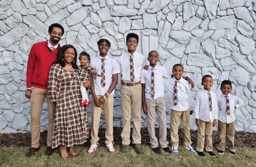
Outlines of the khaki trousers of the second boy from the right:
{"type": "Polygon", "coordinates": [[[212,151],[212,122],[205,122],[200,120],[200,124],[197,131],[197,148],[196,150],[199,152],[203,152],[203,147],[205,143],[206,137],[206,151],[212,151]]]}

